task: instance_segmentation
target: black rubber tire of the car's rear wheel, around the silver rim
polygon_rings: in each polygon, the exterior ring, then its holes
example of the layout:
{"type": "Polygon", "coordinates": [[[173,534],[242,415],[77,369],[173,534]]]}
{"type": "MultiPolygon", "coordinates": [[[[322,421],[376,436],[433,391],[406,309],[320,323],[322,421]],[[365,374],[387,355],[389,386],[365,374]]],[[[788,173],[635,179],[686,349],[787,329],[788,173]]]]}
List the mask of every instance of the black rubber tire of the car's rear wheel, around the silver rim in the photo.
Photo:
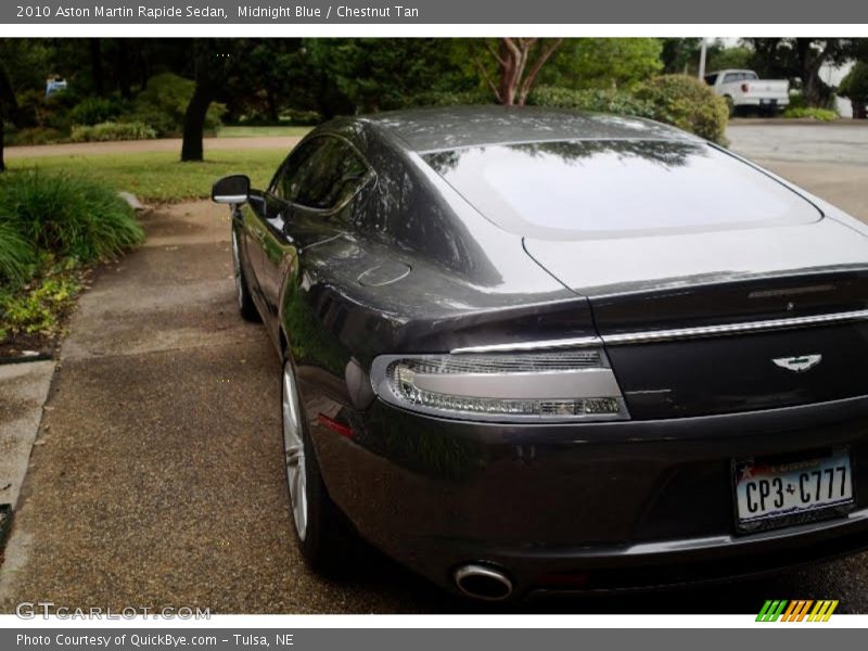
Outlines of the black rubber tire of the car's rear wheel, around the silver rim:
{"type": "MultiPolygon", "coordinates": [[[[283,376],[281,379],[281,420],[285,416],[286,392],[294,392],[297,406],[298,423],[301,424],[301,442],[304,449],[304,495],[306,502],[305,524],[299,526],[295,512],[295,501],[293,498],[293,478],[290,472],[290,449],[285,425],[283,426],[283,458],[286,465],[286,493],[290,498],[290,516],[293,520],[293,529],[298,540],[307,564],[311,570],[326,576],[344,576],[356,557],[355,534],[345,520],[344,514],[335,506],[329,496],[322,473],[317,461],[310,434],[307,429],[307,419],[304,416],[304,407],[298,400],[297,390],[294,382],[294,369],[291,361],[283,366],[283,376]],[[291,373],[292,381],[286,382],[286,373],[291,373]]],[[[297,489],[297,484],[296,484],[297,489]]]]}

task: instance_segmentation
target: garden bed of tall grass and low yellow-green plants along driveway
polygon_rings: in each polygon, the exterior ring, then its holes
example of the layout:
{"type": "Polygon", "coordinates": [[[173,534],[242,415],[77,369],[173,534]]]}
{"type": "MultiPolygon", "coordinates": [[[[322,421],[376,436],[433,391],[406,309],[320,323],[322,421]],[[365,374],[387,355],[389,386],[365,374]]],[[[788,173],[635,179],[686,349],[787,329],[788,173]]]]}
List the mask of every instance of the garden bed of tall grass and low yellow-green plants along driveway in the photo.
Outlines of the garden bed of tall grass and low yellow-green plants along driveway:
{"type": "Polygon", "coordinates": [[[93,265],[144,239],[110,186],[40,170],[0,177],[0,361],[54,355],[93,265]]]}

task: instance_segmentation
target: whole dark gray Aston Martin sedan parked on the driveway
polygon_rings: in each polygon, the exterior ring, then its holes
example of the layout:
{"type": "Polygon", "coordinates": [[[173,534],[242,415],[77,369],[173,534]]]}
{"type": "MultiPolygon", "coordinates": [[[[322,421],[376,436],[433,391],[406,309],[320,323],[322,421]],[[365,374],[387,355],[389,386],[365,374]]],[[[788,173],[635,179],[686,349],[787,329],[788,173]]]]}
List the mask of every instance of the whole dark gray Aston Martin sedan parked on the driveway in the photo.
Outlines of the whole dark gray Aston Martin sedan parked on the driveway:
{"type": "Polygon", "coordinates": [[[868,546],[868,229],[660,124],[342,118],[232,210],[319,570],[359,535],[481,599],[868,546]]]}

